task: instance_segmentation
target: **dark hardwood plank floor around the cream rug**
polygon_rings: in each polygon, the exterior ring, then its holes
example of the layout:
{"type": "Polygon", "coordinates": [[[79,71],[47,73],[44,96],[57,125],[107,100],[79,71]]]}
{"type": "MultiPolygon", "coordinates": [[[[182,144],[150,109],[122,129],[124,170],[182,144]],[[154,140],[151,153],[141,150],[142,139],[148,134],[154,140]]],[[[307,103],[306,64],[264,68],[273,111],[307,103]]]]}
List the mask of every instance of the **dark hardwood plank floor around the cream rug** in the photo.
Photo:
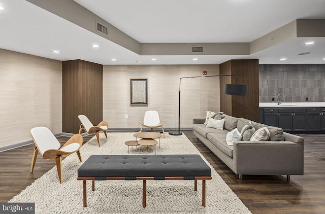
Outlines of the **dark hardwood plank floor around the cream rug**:
{"type": "MultiPolygon", "coordinates": [[[[239,180],[195,135],[185,135],[252,213],[325,213],[325,134],[300,135],[305,138],[305,174],[291,175],[290,182],[276,175],[243,175],[239,180]]],[[[84,142],[90,137],[84,137],[84,142]]],[[[68,137],[58,139],[63,143],[68,137]]],[[[30,173],[33,149],[28,145],[0,153],[0,202],[7,202],[55,166],[55,161],[39,156],[30,173]]]]}

